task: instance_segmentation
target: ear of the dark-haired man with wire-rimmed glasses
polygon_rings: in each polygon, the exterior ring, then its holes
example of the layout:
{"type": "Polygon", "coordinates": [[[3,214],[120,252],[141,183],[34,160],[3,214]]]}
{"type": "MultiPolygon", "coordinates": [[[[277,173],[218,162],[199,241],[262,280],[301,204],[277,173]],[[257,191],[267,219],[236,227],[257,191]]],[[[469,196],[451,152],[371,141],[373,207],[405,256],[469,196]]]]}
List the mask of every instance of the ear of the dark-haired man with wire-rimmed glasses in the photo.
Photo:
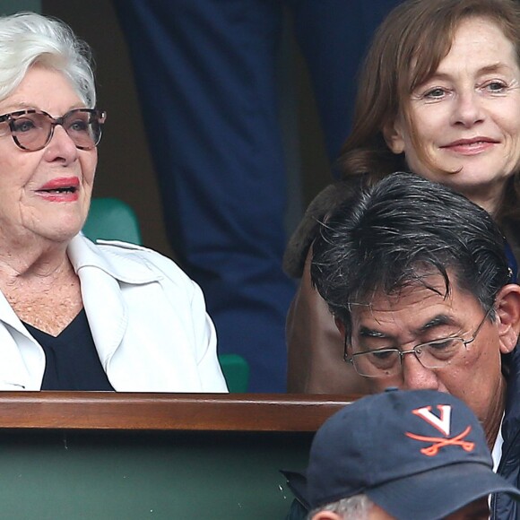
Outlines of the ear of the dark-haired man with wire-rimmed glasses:
{"type": "Polygon", "coordinates": [[[508,283],[498,291],[497,310],[500,352],[513,351],[520,334],[520,285],[508,283]]]}

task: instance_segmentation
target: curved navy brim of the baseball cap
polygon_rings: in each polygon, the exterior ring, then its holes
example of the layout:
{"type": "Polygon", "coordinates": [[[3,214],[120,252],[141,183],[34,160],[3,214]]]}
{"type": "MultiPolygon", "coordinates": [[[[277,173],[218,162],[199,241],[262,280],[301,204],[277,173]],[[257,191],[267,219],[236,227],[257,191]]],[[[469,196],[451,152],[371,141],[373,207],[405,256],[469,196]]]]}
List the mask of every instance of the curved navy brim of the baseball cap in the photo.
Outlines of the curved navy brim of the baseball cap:
{"type": "Polygon", "coordinates": [[[485,464],[452,464],[391,481],[365,491],[377,506],[400,520],[432,520],[455,513],[473,500],[520,491],[485,464]]]}

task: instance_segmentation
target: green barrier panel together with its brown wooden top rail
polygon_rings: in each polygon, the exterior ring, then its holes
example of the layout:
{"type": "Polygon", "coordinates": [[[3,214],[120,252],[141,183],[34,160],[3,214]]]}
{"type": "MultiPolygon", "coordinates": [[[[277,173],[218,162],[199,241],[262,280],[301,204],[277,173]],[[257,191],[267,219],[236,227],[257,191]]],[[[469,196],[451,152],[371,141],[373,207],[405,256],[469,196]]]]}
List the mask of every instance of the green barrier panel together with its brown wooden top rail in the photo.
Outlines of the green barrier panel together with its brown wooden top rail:
{"type": "Polygon", "coordinates": [[[353,398],[0,392],[2,518],[284,518],[281,469],[353,398]]]}

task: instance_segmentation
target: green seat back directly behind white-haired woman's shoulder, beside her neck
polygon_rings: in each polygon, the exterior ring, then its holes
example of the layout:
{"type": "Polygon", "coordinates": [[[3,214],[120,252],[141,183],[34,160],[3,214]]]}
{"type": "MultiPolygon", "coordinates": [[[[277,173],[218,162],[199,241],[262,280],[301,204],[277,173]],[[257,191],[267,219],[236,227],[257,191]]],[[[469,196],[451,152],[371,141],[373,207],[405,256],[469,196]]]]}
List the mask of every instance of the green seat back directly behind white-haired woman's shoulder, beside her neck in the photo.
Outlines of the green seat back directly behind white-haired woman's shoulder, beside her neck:
{"type": "Polygon", "coordinates": [[[137,245],[143,243],[134,210],[123,201],[112,197],[92,198],[83,233],[92,241],[103,238],[137,245]]]}

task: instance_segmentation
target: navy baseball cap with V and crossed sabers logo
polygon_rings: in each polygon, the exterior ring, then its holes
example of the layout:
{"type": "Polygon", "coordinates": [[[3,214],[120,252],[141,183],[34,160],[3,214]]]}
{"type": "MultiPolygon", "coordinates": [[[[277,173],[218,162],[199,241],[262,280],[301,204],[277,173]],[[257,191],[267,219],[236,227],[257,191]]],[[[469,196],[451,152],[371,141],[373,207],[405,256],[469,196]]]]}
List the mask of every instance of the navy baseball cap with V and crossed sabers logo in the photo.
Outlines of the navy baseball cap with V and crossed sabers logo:
{"type": "Polygon", "coordinates": [[[520,490],[493,472],[484,431],[453,395],[390,390],[335,413],[310,449],[311,509],[364,493],[400,520],[434,520],[490,493],[520,490]]]}

